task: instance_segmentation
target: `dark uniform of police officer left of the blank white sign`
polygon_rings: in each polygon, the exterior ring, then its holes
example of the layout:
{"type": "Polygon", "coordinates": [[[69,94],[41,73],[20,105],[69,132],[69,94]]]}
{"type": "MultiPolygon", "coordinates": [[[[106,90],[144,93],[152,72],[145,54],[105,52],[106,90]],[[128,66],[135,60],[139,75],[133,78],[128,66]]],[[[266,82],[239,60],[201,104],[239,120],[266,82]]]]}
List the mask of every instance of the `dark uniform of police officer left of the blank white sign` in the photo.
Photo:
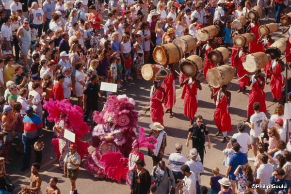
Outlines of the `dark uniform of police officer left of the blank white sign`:
{"type": "Polygon", "coordinates": [[[84,113],[84,122],[87,122],[89,113],[92,110],[98,111],[98,93],[99,93],[99,85],[98,82],[96,82],[94,85],[89,81],[84,86],[84,92],[83,94],[86,95],[86,111],[84,113]]]}

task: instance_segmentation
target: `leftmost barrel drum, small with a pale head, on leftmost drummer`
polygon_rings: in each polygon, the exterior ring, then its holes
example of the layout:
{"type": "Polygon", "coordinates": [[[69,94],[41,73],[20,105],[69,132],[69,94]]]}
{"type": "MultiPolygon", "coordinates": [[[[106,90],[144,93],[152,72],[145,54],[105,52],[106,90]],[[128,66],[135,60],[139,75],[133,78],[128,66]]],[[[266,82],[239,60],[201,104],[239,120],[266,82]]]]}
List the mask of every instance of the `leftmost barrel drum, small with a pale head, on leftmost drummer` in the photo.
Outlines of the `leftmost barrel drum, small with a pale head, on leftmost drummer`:
{"type": "Polygon", "coordinates": [[[147,81],[162,80],[163,78],[170,75],[171,70],[165,68],[162,65],[146,64],[142,68],[142,76],[147,81]]]}

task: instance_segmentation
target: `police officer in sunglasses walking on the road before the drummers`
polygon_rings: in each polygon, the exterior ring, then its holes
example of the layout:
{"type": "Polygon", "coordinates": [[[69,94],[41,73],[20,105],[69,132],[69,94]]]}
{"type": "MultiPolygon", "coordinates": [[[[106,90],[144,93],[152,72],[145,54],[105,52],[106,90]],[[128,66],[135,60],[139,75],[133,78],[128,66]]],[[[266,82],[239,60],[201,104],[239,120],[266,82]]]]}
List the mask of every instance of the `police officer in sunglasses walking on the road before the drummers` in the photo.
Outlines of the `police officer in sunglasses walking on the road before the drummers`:
{"type": "Polygon", "coordinates": [[[189,140],[190,137],[192,137],[192,147],[196,148],[200,158],[201,162],[203,163],[203,157],[204,157],[204,143],[205,143],[205,136],[207,137],[208,141],[208,149],[210,149],[210,137],[209,137],[209,132],[208,129],[205,125],[202,124],[203,118],[201,115],[197,116],[196,123],[192,125],[192,128],[189,129],[189,135],[187,138],[186,146],[189,146],[189,140]]]}

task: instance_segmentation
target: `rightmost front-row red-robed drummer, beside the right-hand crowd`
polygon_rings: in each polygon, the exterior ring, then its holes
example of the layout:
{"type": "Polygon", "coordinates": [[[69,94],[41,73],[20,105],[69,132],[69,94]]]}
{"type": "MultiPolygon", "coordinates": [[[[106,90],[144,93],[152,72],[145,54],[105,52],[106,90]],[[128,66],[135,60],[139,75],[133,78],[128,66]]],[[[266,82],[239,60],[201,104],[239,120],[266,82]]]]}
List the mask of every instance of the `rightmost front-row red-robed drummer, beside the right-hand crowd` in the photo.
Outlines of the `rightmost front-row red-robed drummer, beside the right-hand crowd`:
{"type": "Polygon", "coordinates": [[[282,95],[285,77],[281,74],[285,70],[284,63],[281,60],[275,60],[270,66],[268,72],[272,71],[272,79],[270,82],[271,93],[274,97],[272,102],[276,102],[282,95]]]}

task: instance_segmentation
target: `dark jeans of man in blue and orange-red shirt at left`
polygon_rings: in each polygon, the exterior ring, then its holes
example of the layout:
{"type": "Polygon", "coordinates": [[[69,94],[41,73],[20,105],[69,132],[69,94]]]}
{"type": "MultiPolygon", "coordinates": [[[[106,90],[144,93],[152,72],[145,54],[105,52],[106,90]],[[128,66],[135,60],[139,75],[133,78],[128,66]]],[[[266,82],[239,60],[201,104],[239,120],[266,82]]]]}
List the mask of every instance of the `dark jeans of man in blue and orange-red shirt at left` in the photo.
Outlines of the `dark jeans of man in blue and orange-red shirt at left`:
{"type": "MultiPolygon", "coordinates": [[[[25,135],[23,135],[23,143],[24,143],[23,167],[29,167],[31,156],[32,156],[32,147],[37,141],[38,141],[38,136],[32,139],[29,139],[25,135]]],[[[42,152],[36,151],[34,148],[33,150],[35,152],[35,162],[40,163],[42,160],[42,152]]]]}

